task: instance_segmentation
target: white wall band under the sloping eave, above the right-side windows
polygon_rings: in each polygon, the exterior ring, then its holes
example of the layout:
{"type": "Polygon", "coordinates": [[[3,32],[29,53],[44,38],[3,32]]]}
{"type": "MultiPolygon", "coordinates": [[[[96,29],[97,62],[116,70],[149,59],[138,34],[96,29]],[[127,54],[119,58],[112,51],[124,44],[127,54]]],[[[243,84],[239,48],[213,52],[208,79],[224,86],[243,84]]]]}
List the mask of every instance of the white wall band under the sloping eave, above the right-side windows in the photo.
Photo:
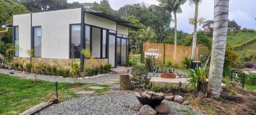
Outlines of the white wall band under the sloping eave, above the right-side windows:
{"type": "Polygon", "coordinates": [[[89,13],[84,13],[84,23],[105,29],[116,30],[115,21],[105,19],[89,13]]]}

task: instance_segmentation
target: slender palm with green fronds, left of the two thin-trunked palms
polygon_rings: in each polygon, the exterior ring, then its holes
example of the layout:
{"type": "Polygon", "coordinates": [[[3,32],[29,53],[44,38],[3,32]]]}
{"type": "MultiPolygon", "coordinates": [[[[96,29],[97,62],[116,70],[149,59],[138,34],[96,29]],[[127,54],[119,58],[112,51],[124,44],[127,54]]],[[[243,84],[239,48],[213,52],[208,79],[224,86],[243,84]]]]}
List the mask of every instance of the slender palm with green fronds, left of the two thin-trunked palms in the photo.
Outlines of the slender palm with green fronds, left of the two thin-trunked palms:
{"type": "Polygon", "coordinates": [[[166,9],[169,13],[174,13],[174,60],[176,61],[177,55],[177,13],[182,13],[181,5],[183,5],[186,0],[158,0],[160,6],[166,9]]]}

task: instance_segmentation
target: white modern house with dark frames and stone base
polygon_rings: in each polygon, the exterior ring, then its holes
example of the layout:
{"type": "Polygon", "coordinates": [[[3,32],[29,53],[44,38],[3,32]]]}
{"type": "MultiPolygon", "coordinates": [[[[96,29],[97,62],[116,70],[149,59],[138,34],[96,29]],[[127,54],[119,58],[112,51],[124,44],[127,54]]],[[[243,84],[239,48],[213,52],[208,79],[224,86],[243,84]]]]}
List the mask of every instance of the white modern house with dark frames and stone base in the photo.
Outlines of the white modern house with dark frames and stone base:
{"type": "Polygon", "coordinates": [[[123,65],[129,28],[138,29],[127,20],[84,7],[14,15],[14,61],[24,62],[27,51],[34,49],[34,59],[40,62],[69,65],[75,58],[83,63],[88,57],[80,51],[88,49],[97,61],[123,65]]]}

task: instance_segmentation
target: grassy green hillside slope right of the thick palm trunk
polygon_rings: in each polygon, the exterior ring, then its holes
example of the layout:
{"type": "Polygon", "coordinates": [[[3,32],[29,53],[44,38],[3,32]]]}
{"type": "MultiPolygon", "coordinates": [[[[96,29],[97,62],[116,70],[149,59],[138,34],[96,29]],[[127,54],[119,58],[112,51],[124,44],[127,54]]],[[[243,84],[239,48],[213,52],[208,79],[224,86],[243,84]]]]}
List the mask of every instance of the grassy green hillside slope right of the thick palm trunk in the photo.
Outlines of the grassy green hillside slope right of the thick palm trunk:
{"type": "Polygon", "coordinates": [[[228,32],[227,34],[227,41],[229,45],[236,45],[242,42],[245,42],[253,37],[256,36],[256,32],[241,32],[239,31],[238,33],[234,32],[228,32]]]}

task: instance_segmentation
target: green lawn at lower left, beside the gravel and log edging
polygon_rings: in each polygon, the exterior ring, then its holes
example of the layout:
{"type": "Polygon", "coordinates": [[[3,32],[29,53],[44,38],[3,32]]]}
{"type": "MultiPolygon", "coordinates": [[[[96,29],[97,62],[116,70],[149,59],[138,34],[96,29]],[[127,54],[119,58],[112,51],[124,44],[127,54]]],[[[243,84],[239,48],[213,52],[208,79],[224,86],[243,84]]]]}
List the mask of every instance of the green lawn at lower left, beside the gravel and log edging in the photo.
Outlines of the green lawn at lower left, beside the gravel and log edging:
{"type": "MultiPolygon", "coordinates": [[[[23,111],[47,100],[56,97],[54,82],[23,79],[0,74],[0,114],[19,114],[23,111]]],[[[109,85],[77,83],[58,83],[58,98],[60,101],[79,97],[74,94],[76,90],[89,90],[89,86],[104,86],[96,93],[109,90],[109,85]]],[[[92,89],[90,89],[92,90],[92,89]]]]}

